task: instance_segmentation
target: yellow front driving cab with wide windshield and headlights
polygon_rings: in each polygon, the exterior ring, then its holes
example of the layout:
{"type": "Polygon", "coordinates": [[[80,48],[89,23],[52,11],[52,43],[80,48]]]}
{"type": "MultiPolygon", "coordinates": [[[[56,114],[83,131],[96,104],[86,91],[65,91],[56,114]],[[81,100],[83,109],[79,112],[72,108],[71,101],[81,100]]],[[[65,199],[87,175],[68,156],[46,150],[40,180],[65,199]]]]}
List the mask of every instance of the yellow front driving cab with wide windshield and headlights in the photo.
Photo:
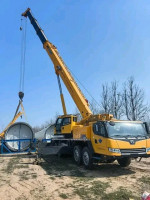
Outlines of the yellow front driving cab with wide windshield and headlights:
{"type": "Polygon", "coordinates": [[[114,157],[150,155],[150,137],[140,121],[98,121],[93,124],[91,142],[96,154],[114,157]]]}

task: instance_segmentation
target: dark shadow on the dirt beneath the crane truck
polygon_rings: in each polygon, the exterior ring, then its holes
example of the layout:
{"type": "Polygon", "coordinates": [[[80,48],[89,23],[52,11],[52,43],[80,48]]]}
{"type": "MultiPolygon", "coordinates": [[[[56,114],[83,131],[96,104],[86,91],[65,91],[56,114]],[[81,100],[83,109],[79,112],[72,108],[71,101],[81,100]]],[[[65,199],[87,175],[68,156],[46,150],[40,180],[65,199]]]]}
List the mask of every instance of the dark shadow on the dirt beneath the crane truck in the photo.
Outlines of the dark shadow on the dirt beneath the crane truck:
{"type": "Polygon", "coordinates": [[[117,163],[94,165],[92,170],[77,166],[71,157],[46,156],[39,165],[48,175],[74,176],[74,177],[118,177],[130,175],[135,172],[128,168],[121,168],[117,163]]]}

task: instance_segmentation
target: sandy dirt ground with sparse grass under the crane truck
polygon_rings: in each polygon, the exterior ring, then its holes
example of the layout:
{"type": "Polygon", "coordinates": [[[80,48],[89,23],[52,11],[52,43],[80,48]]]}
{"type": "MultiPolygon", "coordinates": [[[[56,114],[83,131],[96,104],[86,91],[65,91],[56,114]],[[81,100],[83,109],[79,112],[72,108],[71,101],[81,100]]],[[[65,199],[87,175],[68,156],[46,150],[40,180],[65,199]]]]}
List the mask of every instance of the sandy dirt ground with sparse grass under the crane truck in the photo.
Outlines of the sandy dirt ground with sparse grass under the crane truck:
{"type": "Polygon", "coordinates": [[[0,158],[0,200],[138,200],[150,192],[150,158],[127,168],[99,164],[92,171],[77,167],[71,157],[48,156],[39,165],[34,160],[34,155],[0,158]]]}

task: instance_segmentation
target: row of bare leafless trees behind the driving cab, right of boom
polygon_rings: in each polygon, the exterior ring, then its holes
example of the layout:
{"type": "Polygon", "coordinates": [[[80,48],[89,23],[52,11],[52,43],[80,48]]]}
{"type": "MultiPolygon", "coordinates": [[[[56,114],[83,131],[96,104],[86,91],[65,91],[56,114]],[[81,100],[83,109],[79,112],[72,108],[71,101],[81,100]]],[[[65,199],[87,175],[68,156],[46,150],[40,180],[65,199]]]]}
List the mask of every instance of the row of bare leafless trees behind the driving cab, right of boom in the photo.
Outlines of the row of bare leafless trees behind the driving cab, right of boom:
{"type": "Polygon", "coordinates": [[[94,114],[109,113],[117,119],[143,121],[149,116],[144,90],[136,84],[133,77],[128,78],[121,88],[116,80],[110,84],[102,84],[100,108],[94,101],[90,103],[90,107],[94,114]]]}

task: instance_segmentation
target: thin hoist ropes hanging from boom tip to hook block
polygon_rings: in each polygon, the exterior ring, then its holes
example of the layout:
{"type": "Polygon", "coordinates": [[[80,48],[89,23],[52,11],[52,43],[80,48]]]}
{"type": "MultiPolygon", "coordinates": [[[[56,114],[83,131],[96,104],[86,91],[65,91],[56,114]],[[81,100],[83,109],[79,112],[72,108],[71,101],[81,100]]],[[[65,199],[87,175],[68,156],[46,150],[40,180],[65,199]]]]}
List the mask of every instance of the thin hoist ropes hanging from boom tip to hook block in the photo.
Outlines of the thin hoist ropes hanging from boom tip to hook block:
{"type": "Polygon", "coordinates": [[[21,27],[22,31],[21,37],[21,61],[20,61],[20,83],[19,83],[19,91],[24,91],[24,76],[25,76],[25,57],[26,57],[26,30],[27,30],[27,19],[21,19],[21,27]]]}

